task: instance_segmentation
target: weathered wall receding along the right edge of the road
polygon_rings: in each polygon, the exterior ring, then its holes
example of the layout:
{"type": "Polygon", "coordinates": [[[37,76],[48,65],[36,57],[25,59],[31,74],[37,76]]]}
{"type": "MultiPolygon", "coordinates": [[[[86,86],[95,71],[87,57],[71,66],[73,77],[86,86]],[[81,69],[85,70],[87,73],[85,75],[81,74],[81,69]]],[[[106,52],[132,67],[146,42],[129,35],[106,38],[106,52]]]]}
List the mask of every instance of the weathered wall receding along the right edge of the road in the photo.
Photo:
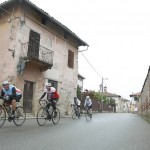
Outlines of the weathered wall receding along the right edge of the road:
{"type": "Polygon", "coordinates": [[[141,90],[138,113],[150,121],[150,67],[141,90]]]}

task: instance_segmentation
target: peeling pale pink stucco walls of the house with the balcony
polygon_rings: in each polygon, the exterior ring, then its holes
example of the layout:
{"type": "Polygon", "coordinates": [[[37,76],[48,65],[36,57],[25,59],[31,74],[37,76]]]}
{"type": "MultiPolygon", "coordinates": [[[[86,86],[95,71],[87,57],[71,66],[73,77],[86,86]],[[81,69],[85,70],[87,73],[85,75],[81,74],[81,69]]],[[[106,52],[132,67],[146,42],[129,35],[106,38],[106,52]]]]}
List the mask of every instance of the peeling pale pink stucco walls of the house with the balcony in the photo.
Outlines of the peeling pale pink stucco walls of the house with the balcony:
{"type": "MultiPolygon", "coordinates": [[[[55,28],[54,25],[42,25],[41,17],[36,12],[24,7],[23,11],[18,6],[14,9],[14,15],[19,16],[10,22],[0,24],[0,40],[3,45],[0,45],[1,68],[5,73],[0,77],[4,80],[6,76],[13,77],[12,82],[23,91],[24,80],[35,82],[35,93],[33,100],[33,112],[36,113],[37,97],[42,94],[43,83],[47,79],[58,81],[58,92],[60,93],[59,108],[62,113],[70,110],[70,103],[76,95],[77,75],[78,75],[78,50],[73,39],[64,39],[62,30],[55,28]],[[12,26],[14,26],[12,28],[12,26]],[[40,34],[40,45],[54,51],[53,67],[46,72],[41,72],[38,66],[32,63],[26,63],[22,74],[18,74],[16,67],[19,58],[22,55],[22,43],[29,41],[30,30],[40,34]],[[11,39],[10,39],[11,35],[11,39]],[[15,50],[15,55],[8,51],[15,50]],[[74,68],[68,68],[68,50],[74,52],[74,68]],[[6,59],[7,58],[7,59],[6,59]],[[5,63],[5,64],[4,64],[5,63]],[[38,94],[37,94],[38,93],[38,94]]],[[[8,16],[8,18],[11,16],[8,16]]]]}

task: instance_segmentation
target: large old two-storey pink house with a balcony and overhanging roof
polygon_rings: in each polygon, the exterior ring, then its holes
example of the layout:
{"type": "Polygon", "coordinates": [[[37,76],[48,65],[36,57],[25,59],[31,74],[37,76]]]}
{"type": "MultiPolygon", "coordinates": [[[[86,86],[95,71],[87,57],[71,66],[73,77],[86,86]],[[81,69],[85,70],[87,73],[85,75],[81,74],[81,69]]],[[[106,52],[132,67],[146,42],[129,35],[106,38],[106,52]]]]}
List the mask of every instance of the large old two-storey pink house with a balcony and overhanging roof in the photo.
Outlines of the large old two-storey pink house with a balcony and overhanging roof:
{"type": "Polygon", "coordinates": [[[9,0],[0,8],[0,82],[20,88],[21,103],[33,115],[44,83],[52,83],[63,114],[76,95],[78,47],[88,44],[28,0],[9,0]]]}

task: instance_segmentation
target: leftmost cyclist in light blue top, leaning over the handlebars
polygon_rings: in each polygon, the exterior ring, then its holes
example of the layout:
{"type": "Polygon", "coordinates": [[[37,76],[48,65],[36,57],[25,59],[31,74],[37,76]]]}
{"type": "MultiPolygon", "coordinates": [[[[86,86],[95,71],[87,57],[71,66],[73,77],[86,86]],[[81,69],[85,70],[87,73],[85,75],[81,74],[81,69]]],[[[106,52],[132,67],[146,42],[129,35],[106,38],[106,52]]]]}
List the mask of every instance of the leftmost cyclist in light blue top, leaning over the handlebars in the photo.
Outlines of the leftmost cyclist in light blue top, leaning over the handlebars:
{"type": "Polygon", "coordinates": [[[4,98],[4,104],[7,106],[12,104],[12,117],[15,117],[16,102],[19,102],[22,97],[22,92],[8,81],[3,82],[1,96],[4,98]]]}

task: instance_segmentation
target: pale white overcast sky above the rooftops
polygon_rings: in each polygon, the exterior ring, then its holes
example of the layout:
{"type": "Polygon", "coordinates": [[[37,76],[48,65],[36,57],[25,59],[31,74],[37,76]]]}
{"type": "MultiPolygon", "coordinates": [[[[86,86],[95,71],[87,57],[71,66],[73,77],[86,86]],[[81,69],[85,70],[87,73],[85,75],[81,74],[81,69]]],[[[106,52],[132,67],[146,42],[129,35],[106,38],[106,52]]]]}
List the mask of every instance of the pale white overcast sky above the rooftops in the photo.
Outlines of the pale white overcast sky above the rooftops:
{"type": "MultiPolygon", "coordinates": [[[[4,0],[0,0],[3,2],[4,0]]],[[[98,91],[102,78],[108,92],[130,99],[140,92],[150,61],[149,0],[31,0],[89,44],[79,53],[84,89],[98,91]]]]}

